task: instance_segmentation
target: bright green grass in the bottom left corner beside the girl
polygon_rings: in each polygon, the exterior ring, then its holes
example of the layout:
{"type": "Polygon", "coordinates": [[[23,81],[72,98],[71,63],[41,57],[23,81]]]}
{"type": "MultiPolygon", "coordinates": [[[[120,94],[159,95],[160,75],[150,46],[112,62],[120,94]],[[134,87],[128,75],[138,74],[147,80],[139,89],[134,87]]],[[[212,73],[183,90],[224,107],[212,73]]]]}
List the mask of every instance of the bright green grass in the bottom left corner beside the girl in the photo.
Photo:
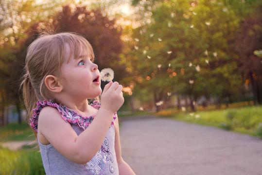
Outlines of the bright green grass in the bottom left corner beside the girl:
{"type": "Polygon", "coordinates": [[[11,151],[0,147],[0,175],[45,175],[40,152],[35,148],[11,151]]]}

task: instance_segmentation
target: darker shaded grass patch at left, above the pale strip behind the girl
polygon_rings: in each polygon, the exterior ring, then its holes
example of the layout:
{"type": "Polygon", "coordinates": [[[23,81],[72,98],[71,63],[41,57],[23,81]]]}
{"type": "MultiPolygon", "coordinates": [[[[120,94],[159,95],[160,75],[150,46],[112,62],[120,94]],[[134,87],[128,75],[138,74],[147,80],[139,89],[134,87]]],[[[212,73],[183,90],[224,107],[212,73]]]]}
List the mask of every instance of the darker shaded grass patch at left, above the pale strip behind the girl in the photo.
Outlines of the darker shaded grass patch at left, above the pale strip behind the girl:
{"type": "Polygon", "coordinates": [[[26,122],[10,123],[0,127],[0,142],[10,140],[35,140],[35,135],[26,122]]]}

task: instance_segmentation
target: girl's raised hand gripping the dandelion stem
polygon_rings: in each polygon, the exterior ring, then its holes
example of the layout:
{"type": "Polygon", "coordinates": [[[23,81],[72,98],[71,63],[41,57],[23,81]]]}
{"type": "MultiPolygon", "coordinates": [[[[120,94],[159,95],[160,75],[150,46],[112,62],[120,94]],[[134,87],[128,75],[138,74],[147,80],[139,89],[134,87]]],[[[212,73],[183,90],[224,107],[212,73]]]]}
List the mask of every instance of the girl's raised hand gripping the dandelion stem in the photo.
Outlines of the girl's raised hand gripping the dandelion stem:
{"type": "Polygon", "coordinates": [[[116,112],[123,105],[124,98],[122,93],[122,85],[118,82],[110,81],[105,85],[101,94],[101,108],[105,108],[111,112],[116,112]]]}

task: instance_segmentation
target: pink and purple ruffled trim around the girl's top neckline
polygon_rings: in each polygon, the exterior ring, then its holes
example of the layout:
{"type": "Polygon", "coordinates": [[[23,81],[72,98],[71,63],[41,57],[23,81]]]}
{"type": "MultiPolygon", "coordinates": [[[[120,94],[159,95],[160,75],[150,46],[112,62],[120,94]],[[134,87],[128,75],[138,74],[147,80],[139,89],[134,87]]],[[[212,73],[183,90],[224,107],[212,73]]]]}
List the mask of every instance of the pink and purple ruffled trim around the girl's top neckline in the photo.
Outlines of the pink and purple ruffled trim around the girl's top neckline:
{"type": "MultiPolygon", "coordinates": [[[[98,100],[94,100],[90,105],[96,109],[99,109],[101,106],[101,103],[98,100]]],[[[45,106],[52,106],[54,108],[57,108],[58,112],[62,115],[62,118],[66,122],[71,123],[71,124],[77,123],[83,129],[87,129],[89,124],[94,120],[94,117],[96,116],[96,114],[89,116],[89,117],[82,116],[81,114],[78,114],[74,110],[69,109],[65,105],[61,105],[61,104],[58,105],[57,103],[53,102],[52,100],[37,101],[36,107],[35,109],[33,109],[33,115],[29,119],[30,125],[35,130],[36,133],[37,133],[39,113],[41,109],[44,108],[45,106]]],[[[111,124],[114,124],[114,122],[116,121],[116,118],[117,118],[117,112],[115,112],[113,121],[111,122],[111,124]]]]}

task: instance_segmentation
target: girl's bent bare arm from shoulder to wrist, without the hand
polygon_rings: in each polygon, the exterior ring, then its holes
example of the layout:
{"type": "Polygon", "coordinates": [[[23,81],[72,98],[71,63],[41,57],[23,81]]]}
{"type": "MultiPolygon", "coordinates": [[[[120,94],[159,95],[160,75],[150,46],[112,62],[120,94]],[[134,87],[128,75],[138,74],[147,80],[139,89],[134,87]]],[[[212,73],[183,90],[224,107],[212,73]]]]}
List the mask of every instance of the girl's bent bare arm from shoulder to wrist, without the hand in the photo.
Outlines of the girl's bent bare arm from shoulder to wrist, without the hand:
{"type": "Polygon", "coordinates": [[[57,109],[44,107],[38,119],[40,131],[52,146],[73,162],[85,164],[95,156],[109,129],[114,113],[100,108],[88,128],[79,136],[57,109]]]}

